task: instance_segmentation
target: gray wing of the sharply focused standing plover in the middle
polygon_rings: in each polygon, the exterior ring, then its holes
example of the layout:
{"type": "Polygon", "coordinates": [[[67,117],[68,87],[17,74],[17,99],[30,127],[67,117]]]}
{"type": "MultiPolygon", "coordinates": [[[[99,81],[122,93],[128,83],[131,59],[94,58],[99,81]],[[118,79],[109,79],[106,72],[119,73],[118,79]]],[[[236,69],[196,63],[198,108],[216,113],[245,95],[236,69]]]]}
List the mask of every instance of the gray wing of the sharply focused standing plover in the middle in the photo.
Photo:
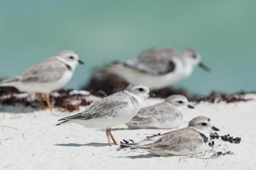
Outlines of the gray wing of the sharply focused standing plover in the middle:
{"type": "MultiPolygon", "coordinates": [[[[88,121],[90,119],[97,119],[101,117],[114,118],[117,116],[118,111],[123,109],[123,107],[126,107],[129,102],[136,102],[129,101],[129,99],[130,96],[128,96],[125,92],[117,92],[108,97],[102,98],[100,101],[94,103],[81,113],[59,119],[58,121],[64,121],[61,123],[67,123],[68,121],[88,121]]],[[[60,125],[61,123],[57,125],[60,125]]]]}

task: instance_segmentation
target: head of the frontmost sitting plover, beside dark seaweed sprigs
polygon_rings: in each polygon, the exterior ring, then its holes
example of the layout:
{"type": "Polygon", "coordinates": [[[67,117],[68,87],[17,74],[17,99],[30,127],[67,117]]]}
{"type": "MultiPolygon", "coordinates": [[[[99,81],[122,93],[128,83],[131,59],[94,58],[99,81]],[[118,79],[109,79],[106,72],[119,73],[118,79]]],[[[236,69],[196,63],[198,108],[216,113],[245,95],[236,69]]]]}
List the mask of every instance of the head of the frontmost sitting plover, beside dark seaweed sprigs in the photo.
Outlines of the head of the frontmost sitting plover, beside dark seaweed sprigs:
{"type": "Polygon", "coordinates": [[[203,116],[193,118],[188,123],[188,127],[191,127],[196,131],[199,131],[201,134],[204,134],[207,137],[210,135],[210,132],[212,132],[213,130],[219,131],[217,127],[212,125],[208,117],[203,117],[203,116]]]}

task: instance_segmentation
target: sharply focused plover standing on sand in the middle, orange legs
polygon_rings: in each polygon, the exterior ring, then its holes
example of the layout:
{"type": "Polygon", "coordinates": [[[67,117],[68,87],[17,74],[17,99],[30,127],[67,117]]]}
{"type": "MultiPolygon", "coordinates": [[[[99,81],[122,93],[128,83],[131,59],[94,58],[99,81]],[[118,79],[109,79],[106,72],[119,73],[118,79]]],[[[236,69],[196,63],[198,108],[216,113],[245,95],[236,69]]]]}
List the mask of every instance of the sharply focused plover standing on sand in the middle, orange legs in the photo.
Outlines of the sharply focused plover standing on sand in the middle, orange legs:
{"type": "Polygon", "coordinates": [[[110,128],[129,122],[141,109],[144,99],[148,97],[156,97],[156,95],[151,93],[145,84],[132,83],[122,92],[102,98],[81,113],[59,119],[58,121],[63,122],[57,125],[79,123],[85,127],[104,128],[109,146],[112,146],[110,137],[117,145],[110,128]]]}

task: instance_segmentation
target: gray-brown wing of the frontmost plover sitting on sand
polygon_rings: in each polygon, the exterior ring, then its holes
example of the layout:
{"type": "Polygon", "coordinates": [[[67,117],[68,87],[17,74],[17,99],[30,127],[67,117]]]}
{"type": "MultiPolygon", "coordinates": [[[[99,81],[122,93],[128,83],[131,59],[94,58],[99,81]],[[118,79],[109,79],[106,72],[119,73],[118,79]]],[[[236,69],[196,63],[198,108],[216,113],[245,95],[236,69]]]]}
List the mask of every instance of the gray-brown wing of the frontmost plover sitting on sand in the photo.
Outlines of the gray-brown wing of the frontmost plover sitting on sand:
{"type": "Polygon", "coordinates": [[[163,155],[191,155],[207,142],[208,139],[204,135],[193,128],[185,127],[167,132],[155,142],[143,145],[138,144],[133,148],[142,148],[156,155],[160,155],[161,152],[163,155]]]}

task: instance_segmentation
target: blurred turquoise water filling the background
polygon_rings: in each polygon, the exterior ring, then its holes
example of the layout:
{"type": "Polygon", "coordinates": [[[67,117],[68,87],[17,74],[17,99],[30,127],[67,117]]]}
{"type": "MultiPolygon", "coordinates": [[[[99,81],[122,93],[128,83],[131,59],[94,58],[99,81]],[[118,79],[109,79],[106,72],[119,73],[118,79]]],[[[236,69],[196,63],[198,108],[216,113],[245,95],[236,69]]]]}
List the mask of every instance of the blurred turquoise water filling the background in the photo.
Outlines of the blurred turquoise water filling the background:
{"type": "Polygon", "coordinates": [[[256,1],[0,1],[0,77],[13,77],[62,49],[77,67],[66,88],[93,69],[150,47],[193,47],[196,68],[174,84],[191,93],[256,90],[256,1]]]}

